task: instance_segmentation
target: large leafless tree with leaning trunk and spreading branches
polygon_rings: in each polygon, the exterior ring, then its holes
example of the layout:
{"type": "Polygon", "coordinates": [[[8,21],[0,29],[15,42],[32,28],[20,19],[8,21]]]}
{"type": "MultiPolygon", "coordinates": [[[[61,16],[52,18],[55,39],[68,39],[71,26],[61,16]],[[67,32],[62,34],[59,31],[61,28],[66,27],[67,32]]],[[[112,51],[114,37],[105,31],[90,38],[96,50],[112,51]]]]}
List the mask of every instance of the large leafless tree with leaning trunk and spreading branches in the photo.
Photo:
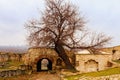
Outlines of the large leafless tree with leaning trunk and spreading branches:
{"type": "Polygon", "coordinates": [[[111,38],[104,34],[92,34],[85,30],[85,21],[77,8],[63,0],[46,0],[45,11],[40,19],[28,21],[26,28],[32,46],[53,47],[63,59],[67,69],[74,69],[66,49],[102,47],[111,38]]]}

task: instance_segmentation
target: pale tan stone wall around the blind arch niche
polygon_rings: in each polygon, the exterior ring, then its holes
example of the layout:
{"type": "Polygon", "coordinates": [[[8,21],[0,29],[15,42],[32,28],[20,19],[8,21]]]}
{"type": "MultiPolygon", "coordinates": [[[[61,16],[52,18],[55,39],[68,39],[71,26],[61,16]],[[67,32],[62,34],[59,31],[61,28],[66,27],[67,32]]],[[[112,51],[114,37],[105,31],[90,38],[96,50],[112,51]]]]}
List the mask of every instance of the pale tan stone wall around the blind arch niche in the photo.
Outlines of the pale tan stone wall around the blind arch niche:
{"type": "MultiPolygon", "coordinates": [[[[108,62],[111,62],[112,55],[104,54],[104,55],[92,55],[92,54],[76,54],[76,69],[81,72],[86,72],[86,66],[85,63],[89,60],[93,60],[96,63],[98,63],[97,70],[104,70],[107,68],[108,62]]],[[[94,64],[93,64],[94,65],[94,64]]],[[[92,65],[91,68],[93,67],[92,65]]]]}

